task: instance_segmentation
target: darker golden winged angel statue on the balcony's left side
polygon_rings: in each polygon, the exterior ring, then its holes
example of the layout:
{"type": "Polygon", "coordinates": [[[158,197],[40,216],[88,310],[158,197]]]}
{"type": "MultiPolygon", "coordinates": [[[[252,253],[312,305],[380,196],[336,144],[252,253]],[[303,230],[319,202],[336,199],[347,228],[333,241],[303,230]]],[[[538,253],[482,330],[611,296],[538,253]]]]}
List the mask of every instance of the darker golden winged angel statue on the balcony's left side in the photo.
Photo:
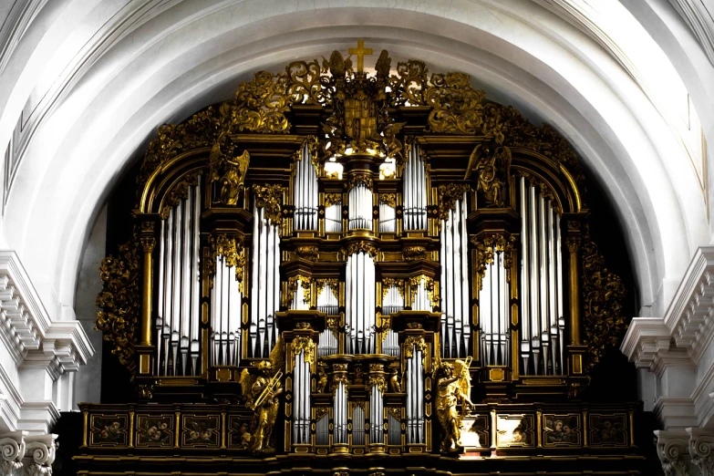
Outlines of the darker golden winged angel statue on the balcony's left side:
{"type": "Polygon", "coordinates": [[[264,360],[255,366],[257,375],[247,368],[243,368],[241,372],[245,404],[254,410],[251,422],[253,434],[248,449],[255,453],[274,450],[273,427],[280,410],[278,397],[283,393],[283,385],[280,381],[283,377],[280,369],[285,363],[283,347],[283,336],[280,336],[270,353],[269,360],[264,360]]]}

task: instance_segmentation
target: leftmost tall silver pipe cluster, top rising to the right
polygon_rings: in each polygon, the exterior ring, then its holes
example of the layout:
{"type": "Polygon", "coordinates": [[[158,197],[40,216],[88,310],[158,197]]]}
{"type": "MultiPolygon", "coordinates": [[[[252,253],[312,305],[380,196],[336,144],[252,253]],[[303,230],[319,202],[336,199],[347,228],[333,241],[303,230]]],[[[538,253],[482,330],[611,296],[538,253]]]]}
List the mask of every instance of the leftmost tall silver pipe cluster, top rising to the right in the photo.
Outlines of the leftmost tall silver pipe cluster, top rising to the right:
{"type": "Polygon", "coordinates": [[[160,223],[157,375],[198,375],[200,197],[191,186],[160,223]]]}

